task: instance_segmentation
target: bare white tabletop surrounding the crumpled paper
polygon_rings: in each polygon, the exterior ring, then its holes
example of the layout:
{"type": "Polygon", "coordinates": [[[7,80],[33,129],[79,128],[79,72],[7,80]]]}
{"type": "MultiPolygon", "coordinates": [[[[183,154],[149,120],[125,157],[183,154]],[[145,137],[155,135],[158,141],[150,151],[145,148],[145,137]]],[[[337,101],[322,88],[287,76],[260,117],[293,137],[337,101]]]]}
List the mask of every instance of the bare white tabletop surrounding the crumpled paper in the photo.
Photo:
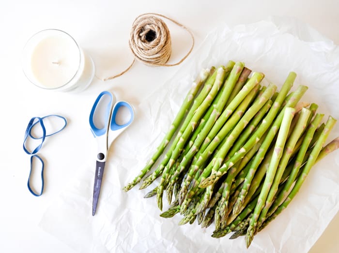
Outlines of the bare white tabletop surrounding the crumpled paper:
{"type": "MultiPolygon", "coordinates": [[[[70,168],[77,166],[77,159],[81,159],[92,138],[87,126],[92,100],[100,91],[112,89],[118,97],[137,105],[142,97],[152,92],[143,89],[143,84],[153,82],[156,88],[180,68],[150,68],[137,63],[115,80],[103,83],[95,78],[91,87],[79,94],[45,91],[29,83],[21,70],[22,48],[33,33],[48,28],[67,31],[92,56],[97,76],[106,77],[123,70],[132,60],[128,48],[129,31],[134,18],[142,13],[161,13],[185,24],[194,33],[195,53],[205,35],[221,22],[228,25],[252,23],[269,15],[297,17],[338,45],[338,10],[337,0],[3,1],[0,8],[0,252],[74,252],[45,233],[38,223],[63,185],[76,177],[76,169],[70,168]],[[23,134],[31,117],[50,113],[65,115],[69,126],[62,133],[63,138],[48,140],[51,148],[44,151],[48,158],[46,189],[43,196],[36,198],[26,186],[29,156],[22,150],[23,134]]],[[[189,37],[178,28],[170,26],[170,30],[175,30],[173,45],[180,40],[189,42],[189,37]]],[[[184,50],[174,46],[172,59],[179,59],[184,50]]],[[[310,252],[338,252],[338,226],[337,214],[310,252]]]]}

